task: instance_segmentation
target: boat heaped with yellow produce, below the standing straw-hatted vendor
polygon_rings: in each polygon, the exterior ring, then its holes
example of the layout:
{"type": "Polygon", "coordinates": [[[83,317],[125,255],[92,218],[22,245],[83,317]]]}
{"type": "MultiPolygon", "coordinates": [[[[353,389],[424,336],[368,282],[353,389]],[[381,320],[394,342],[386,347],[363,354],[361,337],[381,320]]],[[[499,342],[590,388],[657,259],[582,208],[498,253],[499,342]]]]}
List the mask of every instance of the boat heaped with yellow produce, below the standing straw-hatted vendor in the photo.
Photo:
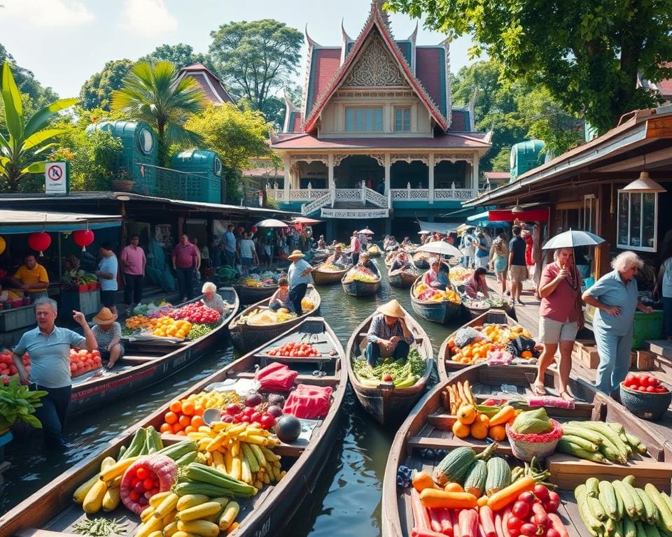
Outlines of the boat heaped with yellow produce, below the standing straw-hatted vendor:
{"type": "Polygon", "coordinates": [[[270,297],[249,306],[229,323],[233,344],[242,352],[263,345],[306,317],[317,315],[321,304],[320,294],[312,285],[308,286],[302,301],[301,315],[296,315],[286,308],[274,312],[268,308],[269,299],[270,297]]]}

